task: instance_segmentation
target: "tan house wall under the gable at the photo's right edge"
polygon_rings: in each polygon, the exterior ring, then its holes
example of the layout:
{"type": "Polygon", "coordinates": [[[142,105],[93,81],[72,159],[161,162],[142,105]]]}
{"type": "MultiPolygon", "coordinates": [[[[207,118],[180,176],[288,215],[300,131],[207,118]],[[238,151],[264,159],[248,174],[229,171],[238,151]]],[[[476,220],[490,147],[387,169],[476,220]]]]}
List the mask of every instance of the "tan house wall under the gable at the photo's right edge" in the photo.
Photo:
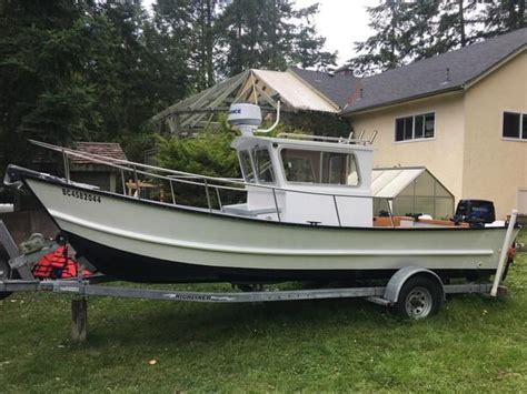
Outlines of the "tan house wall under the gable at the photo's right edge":
{"type": "Polygon", "coordinates": [[[527,140],[501,138],[503,112],[527,113],[527,52],[469,88],[465,98],[463,195],[493,200],[497,216],[527,188],[527,140]]]}

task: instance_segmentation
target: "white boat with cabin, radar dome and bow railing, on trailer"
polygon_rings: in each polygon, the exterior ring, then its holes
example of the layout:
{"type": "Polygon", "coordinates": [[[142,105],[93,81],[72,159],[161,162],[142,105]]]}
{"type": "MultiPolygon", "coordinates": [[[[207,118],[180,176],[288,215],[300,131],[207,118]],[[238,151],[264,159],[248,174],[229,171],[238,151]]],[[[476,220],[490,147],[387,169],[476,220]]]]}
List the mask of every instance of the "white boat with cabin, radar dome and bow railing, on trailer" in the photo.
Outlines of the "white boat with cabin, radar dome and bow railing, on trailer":
{"type": "MultiPolygon", "coordinates": [[[[101,272],[137,282],[340,281],[388,279],[429,269],[443,280],[496,272],[505,226],[471,228],[372,212],[369,141],[281,134],[258,137],[256,105],[233,105],[242,131],[243,180],[218,179],[108,159],[36,142],[64,156],[66,176],[10,165],[4,183],[23,183],[78,254],[101,272]],[[249,111],[247,114],[246,111],[249,111]],[[112,193],[69,179],[71,156],[106,164],[126,180],[163,183],[166,201],[112,193]],[[200,188],[205,208],[178,203],[175,188],[200,188]],[[232,191],[247,194],[223,204],[232,191]]],[[[389,210],[389,204],[387,204],[389,210]]],[[[516,233],[518,230],[515,230],[516,233]]]]}

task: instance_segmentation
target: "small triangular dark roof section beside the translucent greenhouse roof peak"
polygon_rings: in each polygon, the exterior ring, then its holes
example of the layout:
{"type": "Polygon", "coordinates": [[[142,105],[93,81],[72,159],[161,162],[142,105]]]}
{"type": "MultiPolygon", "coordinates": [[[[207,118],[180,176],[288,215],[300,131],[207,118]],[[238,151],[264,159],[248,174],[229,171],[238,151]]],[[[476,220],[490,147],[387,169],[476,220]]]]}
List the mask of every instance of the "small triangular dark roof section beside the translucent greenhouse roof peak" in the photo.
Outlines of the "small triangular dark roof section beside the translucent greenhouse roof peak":
{"type": "Polygon", "coordinates": [[[340,109],[346,105],[351,92],[360,81],[359,78],[351,74],[331,74],[321,71],[302,70],[296,67],[289,68],[288,71],[310,84],[311,88],[332,101],[332,103],[340,109]]]}

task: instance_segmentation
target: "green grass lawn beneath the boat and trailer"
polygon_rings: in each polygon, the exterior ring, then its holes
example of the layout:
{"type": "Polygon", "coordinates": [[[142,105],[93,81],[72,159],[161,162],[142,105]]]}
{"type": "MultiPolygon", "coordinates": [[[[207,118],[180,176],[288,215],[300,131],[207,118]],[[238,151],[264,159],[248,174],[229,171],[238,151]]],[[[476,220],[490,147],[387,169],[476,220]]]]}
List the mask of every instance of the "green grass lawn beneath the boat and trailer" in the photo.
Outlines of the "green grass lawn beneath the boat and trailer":
{"type": "Polygon", "coordinates": [[[91,299],[86,344],[69,341],[68,296],[14,295],[0,301],[0,392],[526,392],[526,253],[507,285],[421,322],[359,300],[91,299]]]}

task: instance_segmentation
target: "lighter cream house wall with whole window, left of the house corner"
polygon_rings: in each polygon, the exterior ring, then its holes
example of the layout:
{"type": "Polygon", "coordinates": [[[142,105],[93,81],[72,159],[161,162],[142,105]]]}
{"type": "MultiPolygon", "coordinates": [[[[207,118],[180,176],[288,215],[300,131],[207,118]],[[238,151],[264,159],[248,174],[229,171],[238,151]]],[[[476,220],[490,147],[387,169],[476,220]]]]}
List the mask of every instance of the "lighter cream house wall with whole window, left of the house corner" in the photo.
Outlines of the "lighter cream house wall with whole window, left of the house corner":
{"type": "Polygon", "coordinates": [[[447,93],[351,117],[356,132],[378,130],[374,142],[374,165],[425,165],[454,193],[463,192],[464,100],[463,92],[447,93]],[[435,112],[436,137],[395,142],[396,118],[435,112]]]}

